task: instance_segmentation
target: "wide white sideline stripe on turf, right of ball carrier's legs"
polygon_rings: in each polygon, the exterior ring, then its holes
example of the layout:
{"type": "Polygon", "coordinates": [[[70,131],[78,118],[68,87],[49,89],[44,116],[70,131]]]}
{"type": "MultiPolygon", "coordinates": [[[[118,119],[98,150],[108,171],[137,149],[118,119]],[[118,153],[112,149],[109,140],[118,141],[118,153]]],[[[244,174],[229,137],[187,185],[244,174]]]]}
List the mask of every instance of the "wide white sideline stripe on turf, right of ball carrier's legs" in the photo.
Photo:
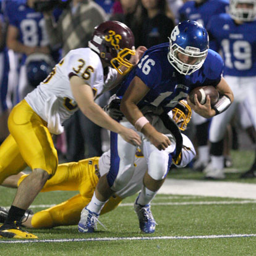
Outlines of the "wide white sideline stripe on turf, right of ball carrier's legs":
{"type": "Polygon", "coordinates": [[[166,179],[158,194],[256,199],[256,184],[226,181],[166,179]]]}

